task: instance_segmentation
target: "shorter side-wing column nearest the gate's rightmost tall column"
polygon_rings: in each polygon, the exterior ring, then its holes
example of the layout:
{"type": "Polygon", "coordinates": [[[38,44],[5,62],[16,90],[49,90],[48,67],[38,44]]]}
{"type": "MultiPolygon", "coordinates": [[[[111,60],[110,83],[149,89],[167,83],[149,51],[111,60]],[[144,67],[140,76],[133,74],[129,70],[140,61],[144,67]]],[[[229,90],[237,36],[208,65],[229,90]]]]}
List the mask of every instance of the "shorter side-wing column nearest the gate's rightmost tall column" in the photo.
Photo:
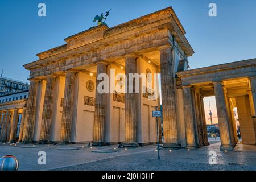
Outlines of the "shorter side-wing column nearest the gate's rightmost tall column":
{"type": "Polygon", "coordinates": [[[191,86],[183,86],[182,89],[187,148],[197,148],[194,128],[195,119],[193,117],[194,110],[192,105],[191,86]]]}

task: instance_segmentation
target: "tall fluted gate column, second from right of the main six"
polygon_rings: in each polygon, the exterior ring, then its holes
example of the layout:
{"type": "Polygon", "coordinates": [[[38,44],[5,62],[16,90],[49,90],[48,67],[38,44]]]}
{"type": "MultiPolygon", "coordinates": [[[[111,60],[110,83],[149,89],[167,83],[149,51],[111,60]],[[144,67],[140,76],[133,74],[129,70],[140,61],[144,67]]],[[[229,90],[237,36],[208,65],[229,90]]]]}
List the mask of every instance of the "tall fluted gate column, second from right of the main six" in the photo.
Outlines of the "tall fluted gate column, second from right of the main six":
{"type": "Polygon", "coordinates": [[[125,75],[126,75],[126,94],[125,94],[125,146],[138,146],[137,143],[137,109],[135,83],[131,83],[129,73],[136,73],[137,61],[136,56],[125,56],[125,75]],[[130,88],[133,86],[133,88],[130,88]],[[130,91],[129,92],[129,88],[130,91]]]}

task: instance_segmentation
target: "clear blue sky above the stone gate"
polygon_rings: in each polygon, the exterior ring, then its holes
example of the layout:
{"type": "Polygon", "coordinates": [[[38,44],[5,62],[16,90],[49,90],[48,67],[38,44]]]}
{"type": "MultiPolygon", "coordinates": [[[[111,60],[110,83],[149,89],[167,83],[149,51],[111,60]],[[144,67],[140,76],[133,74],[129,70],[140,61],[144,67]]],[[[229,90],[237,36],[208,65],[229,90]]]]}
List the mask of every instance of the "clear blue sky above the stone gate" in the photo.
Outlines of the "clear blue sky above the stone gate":
{"type": "MultiPolygon", "coordinates": [[[[0,39],[3,76],[26,81],[23,64],[37,60],[36,53],[64,44],[64,38],[94,25],[95,15],[112,9],[109,27],[172,6],[195,50],[191,68],[256,57],[256,1],[207,0],[1,0],[0,39]],[[39,18],[38,4],[46,3],[47,16],[39,18]],[[208,16],[210,2],[217,17],[208,16]]],[[[0,70],[0,71],[1,71],[0,70]]]]}

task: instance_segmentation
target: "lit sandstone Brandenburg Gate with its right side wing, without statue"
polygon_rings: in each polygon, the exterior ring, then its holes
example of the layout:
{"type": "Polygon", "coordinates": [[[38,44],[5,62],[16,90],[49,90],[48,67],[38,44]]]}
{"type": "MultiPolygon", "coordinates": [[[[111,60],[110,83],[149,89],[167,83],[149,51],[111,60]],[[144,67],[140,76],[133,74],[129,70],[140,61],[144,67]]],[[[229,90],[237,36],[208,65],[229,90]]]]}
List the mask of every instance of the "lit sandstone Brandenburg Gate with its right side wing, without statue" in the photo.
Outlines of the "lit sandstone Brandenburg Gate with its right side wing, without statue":
{"type": "MultiPolygon", "coordinates": [[[[22,142],[156,143],[151,113],[160,100],[150,99],[158,87],[147,84],[160,82],[163,147],[208,145],[205,96],[216,96],[221,150],[232,150],[237,142],[233,107],[243,117],[245,130],[250,130],[247,142],[255,144],[251,114],[256,108],[256,60],[188,70],[188,57],[194,52],[185,33],[168,7],[112,28],[102,23],[65,38],[62,46],[38,53],[38,60],[24,65],[31,85],[22,142]],[[143,93],[98,92],[102,80],[109,83],[104,89],[112,89],[110,80],[120,73],[160,73],[160,80],[147,77],[142,86],[140,78],[143,93]],[[102,79],[102,74],[109,79],[102,79]]],[[[115,84],[121,81],[119,77],[115,84]]],[[[133,81],[127,80],[127,90],[134,90],[133,81]]]]}

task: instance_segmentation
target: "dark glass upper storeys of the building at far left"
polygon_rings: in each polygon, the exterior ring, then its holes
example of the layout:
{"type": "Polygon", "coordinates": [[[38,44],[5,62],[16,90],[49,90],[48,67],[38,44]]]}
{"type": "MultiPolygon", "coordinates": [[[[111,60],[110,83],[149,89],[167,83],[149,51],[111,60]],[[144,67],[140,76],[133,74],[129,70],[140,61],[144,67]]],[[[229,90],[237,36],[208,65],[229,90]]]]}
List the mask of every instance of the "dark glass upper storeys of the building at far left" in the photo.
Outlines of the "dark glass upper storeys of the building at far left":
{"type": "Polygon", "coordinates": [[[30,85],[28,85],[26,82],[0,77],[0,96],[4,94],[28,90],[29,86],[30,85]]]}

